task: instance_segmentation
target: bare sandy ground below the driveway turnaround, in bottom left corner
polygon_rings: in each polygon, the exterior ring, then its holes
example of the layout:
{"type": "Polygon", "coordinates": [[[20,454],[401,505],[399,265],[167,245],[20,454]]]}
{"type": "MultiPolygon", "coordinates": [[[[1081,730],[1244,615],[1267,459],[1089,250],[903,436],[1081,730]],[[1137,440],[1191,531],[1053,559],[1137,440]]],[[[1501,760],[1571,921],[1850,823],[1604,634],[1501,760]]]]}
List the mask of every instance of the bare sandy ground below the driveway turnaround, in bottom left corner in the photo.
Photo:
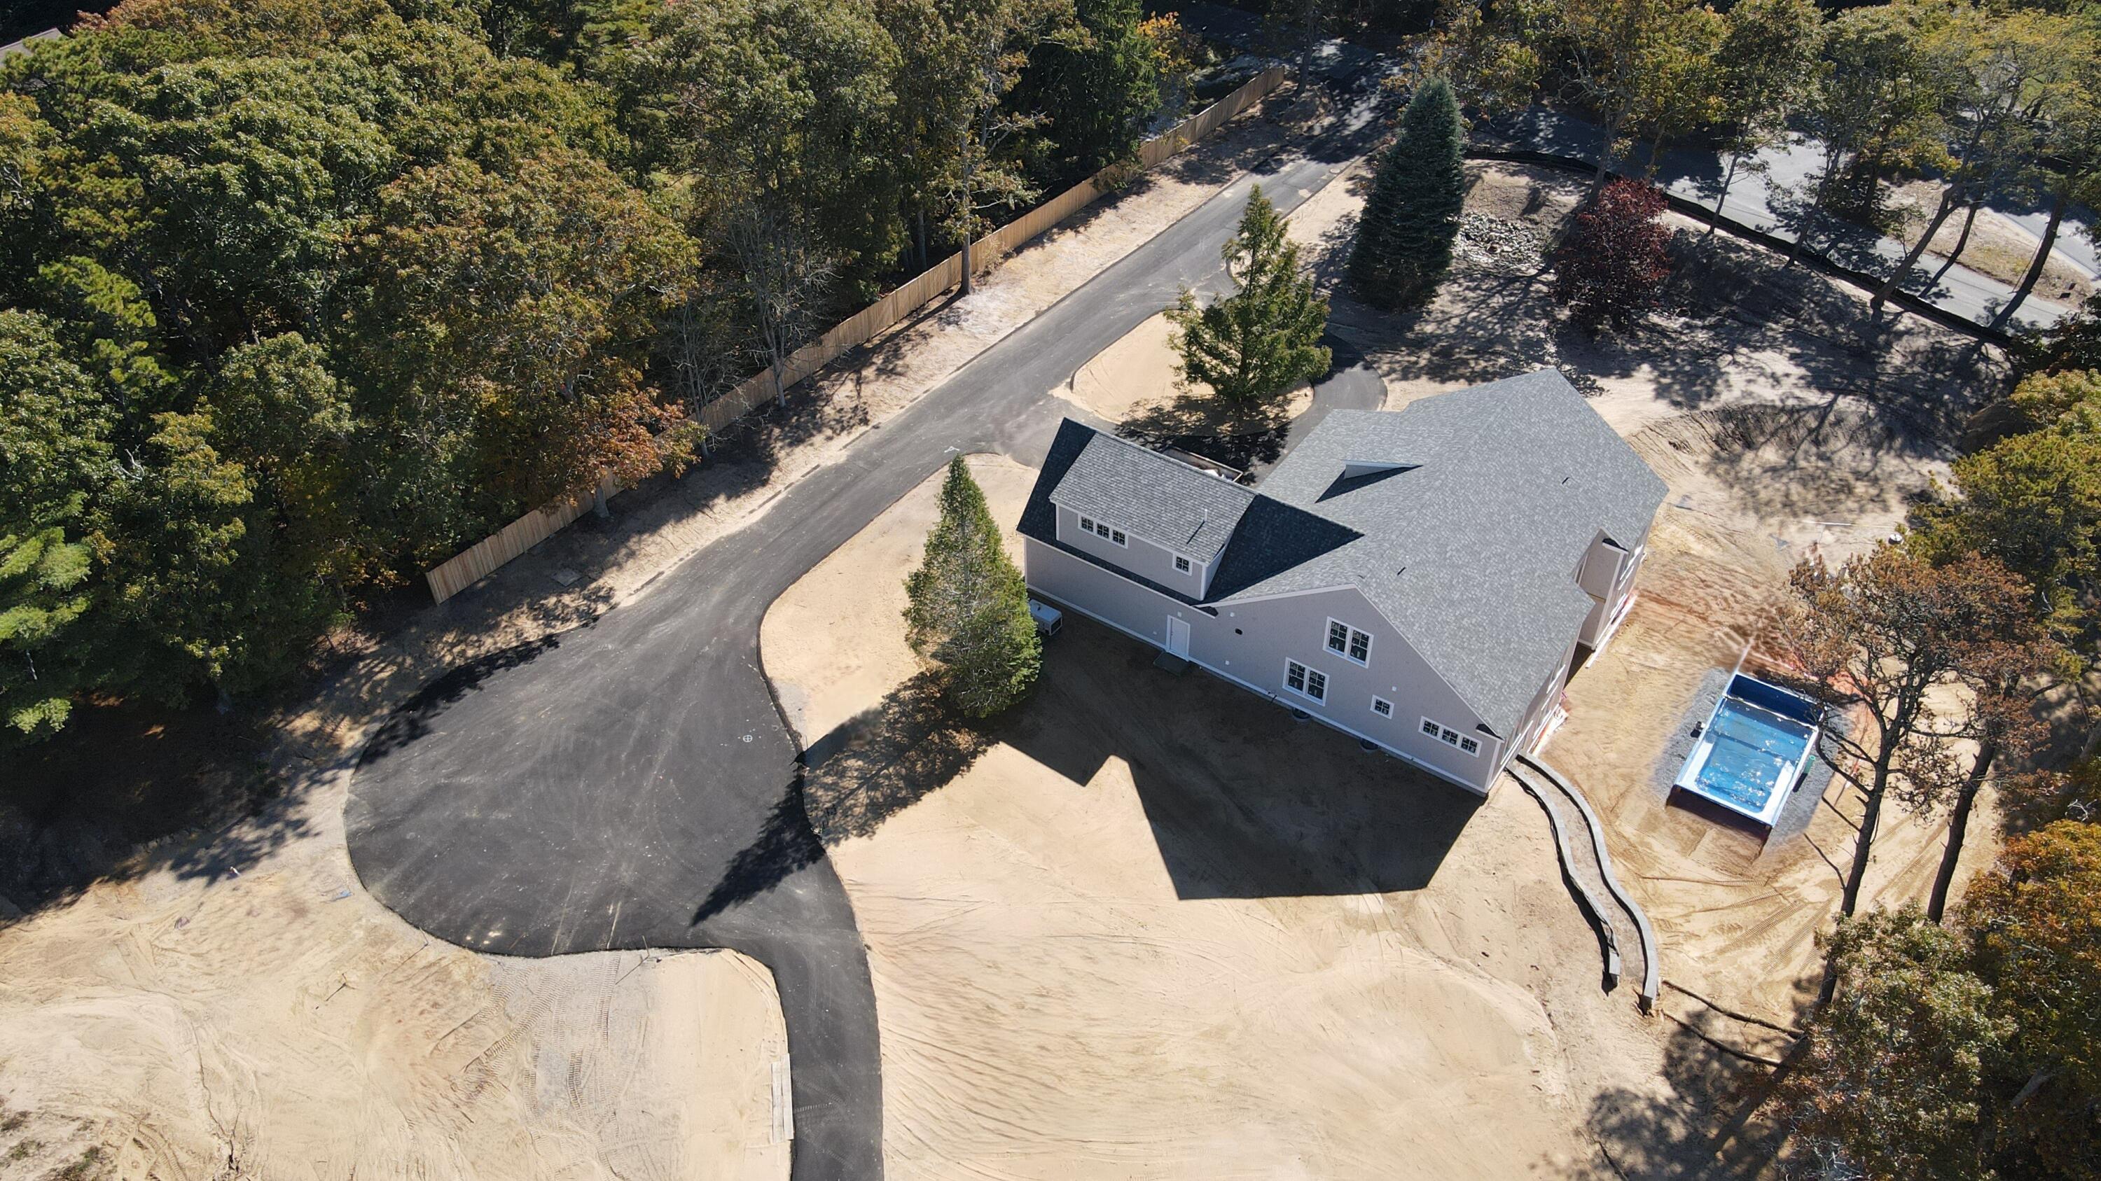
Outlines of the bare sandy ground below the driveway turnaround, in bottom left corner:
{"type": "Polygon", "coordinates": [[[0,1175],[788,1177],[765,967],[466,952],[357,889],[340,796],[273,822],[6,931],[0,1175]]]}

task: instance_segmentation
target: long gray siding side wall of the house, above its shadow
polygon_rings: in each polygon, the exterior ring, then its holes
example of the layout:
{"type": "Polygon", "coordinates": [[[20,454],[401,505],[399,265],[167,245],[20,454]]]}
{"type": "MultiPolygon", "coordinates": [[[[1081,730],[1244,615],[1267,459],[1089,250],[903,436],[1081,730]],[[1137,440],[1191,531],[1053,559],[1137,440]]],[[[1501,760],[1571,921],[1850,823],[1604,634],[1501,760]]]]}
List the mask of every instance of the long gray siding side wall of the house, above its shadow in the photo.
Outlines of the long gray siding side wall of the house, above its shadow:
{"type": "MultiPolygon", "coordinates": [[[[1078,536],[1078,519],[1072,527],[1078,536]]],[[[1034,538],[1023,538],[1023,542],[1029,588],[1046,599],[1076,607],[1160,647],[1166,647],[1168,616],[1181,618],[1189,624],[1189,660],[1240,681],[1277,704],[1301,708],[1328,725],[1368,738],[1483,794],[1502,771],[1506,744],[1477,729],[1479,717],[1460,702],[1441,677],[1431,672],[1429,664],[1355,588],[1221,603],[1219,614],[1212,616],[1034,538]],[[1330,618],[1372,635],[1368,664],[1359,666],[1328,651],[1324,637],[1330,618]],[[1286,691],[1286,660],[1298,660],[1328,675],[1326,702],[1286,691]],[[1393,702],[1393,717],[1372,712],[1374,693],[1393,702]],[[1424,735],[1420,729],[1424,717],[1479,740],[1481,752],[1466,754],[1424,735]]],[[[1107,548],[1122,553],[1116,546],[1107,548]]],[[[1116,561],[1114,553],[1103,555],[1103,559],[1116,561]]],[[[1559,689],[1559,679],[1555,689],[1559,689]]]]}

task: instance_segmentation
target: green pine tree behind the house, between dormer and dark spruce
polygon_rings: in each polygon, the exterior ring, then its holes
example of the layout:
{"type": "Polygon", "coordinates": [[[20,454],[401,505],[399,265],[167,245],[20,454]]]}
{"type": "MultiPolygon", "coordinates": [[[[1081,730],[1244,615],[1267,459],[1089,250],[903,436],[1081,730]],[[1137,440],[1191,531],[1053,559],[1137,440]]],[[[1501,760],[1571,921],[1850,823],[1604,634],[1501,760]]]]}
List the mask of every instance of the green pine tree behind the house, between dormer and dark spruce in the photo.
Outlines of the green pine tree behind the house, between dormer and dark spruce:
{"type": "Polygon", "coordinates": [[[1263,189],[1248,193],[1240,233],[1225,244],[1225,269],[1235,294],[1200,309],[1183,288],[1168,309],[1174,324],[1177,374],[1204,382],[1233,418],[1248,418],[1284,391],[1328,372],[1328,301],[1298,271],[1298,244],[1263,189]]]}

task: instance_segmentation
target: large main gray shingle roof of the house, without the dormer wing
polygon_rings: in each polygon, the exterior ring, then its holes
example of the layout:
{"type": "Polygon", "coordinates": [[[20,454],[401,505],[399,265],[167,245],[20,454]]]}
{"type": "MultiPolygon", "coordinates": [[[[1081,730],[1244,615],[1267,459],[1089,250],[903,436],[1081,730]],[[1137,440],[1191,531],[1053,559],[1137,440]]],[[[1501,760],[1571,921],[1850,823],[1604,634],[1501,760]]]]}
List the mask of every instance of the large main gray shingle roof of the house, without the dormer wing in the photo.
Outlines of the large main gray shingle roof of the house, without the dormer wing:
{"type": "MultiPolygon", "coordinates": [[[[1361,534],[1235,595],[1357,586],[1496,733],[1515,735],[1590,612],[1599,532],[1632,548],[1664,481],[1555,370],[1336,410],[1261,494],[1361,534]],[[1343,479],[1349,462],[1403,471],[1343,479]]],[[[1237,546],[1235,546],[1237,548],[1237,546]]]]}

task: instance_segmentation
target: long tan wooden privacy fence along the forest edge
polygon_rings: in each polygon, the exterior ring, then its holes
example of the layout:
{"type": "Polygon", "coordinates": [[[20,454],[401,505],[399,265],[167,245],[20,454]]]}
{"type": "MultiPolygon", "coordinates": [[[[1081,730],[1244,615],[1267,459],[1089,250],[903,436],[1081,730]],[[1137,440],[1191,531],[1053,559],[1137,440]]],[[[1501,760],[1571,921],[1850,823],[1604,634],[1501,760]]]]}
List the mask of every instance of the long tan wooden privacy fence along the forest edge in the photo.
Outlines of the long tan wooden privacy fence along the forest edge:
{"type": "MultiPolygon", "coordinates": [[[[1282,82],[1282,65],[1271,65],[1269,69],[1256,74],[1231,95],[1139,145],[1139,164],[1143,168],[1151,168],[1219,130],[1227,120],[1252,107],[1263,95],[1275,90],[1282,82]]],[[[1086,181],[1080,181],[1019,219],[979,237],[973,244],[971,269],[983,273],[998,267],[1000,261],[1013,254],[1023,242],[1095,204],[1103,193],[1109,193],[1116,187],[1116,181],[1120,179],[1118,172],[1122,170],[1105,168],[1095,172],[1086,181]]],[[[788,357],[788,366],[782,372],[782,389],[803,382],[824,366],[836,361],[847,349],[857,349],[874,340],[885,328],[891,328],[914,311],[927,307],[958,284],[962,284],[960,252],[941,258],[918,275],[912,275],[891,294],[878,298],[847,319],[840,319],[830,332],[796,349],[794,355],[788,357]]],[[[721,431],[771,399],[773,374],[763,372],[744,385],[737,385],[723,397],[702,406],[695,418],[706,424],[708,431],[721,431]]],[[[618,492],[618,485],[613,485],[607,475],[605,481],[599,483],[599,492],[611,496],[618,492]]],[[[584,492],[555,500],[553,504],[542,504],[517,521],[511,521],[500,534],[483,538],[473,548],[458,553],[443,565],[427,572],[424,578],[431,580],[431,597],[443,603],[445,599],[473,586],[498,565],[546,540],[550,534],[582,515],[588,506],[590,494],[584,492]]]]}

